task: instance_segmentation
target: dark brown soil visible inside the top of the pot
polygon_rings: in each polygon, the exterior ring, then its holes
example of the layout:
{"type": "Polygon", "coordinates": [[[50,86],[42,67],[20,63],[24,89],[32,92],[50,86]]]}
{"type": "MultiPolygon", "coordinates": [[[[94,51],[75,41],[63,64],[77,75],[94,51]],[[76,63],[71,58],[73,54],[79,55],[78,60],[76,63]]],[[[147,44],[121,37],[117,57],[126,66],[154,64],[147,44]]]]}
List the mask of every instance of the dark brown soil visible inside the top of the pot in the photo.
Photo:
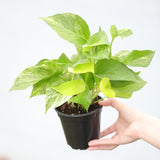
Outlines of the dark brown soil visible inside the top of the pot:
{"type": "MultiPolygon", "coordinates": [[[[99,97],[96,97],[93,100],[92,105],[90,105],[88,112],[91,112],[95,110],[96,108],[99,108],[100,105],[96,102],[99,97]],[[96,102],[96,103],[95,103],[96,102]]],[[[83,107],[80,104],[74,103],[74,107],[71,106],[71,103],[64,103],[61,106],[57,108],[59,112],[65,113],[65,114],[72,114],[72,115],[77,115],[77,114],[84,114],[87,113],[86,110],[83,109],[83,107]]]]}

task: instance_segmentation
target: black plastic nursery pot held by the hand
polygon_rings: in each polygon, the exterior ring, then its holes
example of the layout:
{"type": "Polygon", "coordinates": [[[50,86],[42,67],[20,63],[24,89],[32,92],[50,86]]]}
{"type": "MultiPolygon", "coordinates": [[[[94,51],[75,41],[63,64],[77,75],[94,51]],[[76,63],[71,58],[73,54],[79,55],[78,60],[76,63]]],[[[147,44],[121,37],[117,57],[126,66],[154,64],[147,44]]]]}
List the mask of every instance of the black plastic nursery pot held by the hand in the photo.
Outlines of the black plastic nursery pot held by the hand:
{"type": "Polygon", "coordinates": [[[67,143],[73,149],[87,149],[90,140],[99,138],[101,110],[99,106],[88,113],[69,115],[56,109],[67,143]]]}

